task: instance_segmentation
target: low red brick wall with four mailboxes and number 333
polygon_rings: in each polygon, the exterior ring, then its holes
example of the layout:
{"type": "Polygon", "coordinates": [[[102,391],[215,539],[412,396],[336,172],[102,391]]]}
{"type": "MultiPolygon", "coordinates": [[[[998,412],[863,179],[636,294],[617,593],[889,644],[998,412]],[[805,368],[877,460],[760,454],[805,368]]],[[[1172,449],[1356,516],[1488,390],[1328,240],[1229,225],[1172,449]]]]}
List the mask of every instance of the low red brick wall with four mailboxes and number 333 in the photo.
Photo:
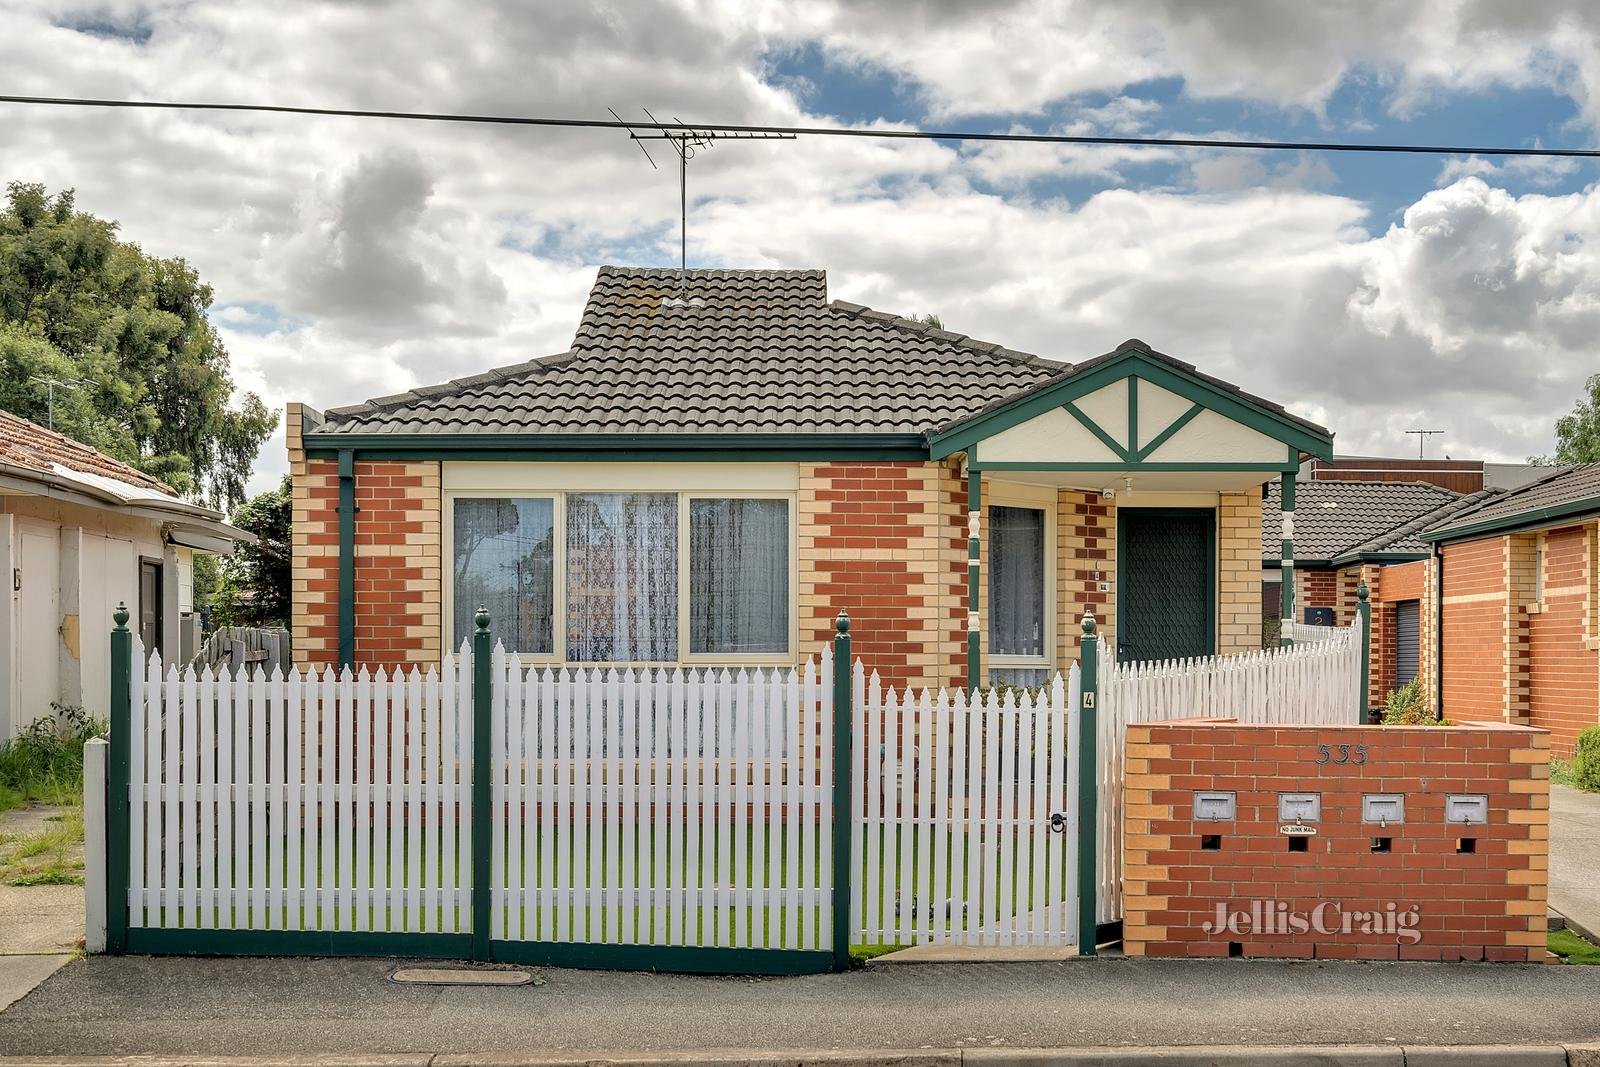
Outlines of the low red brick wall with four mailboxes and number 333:
{"type": "Polygon", "coordinates": [[[1549,745],[1498,723],[1130,726],[1125,949],[1546,960],[1549,745]],[[1318,816],[1280,817],[1280,793],[1318,816]]]}

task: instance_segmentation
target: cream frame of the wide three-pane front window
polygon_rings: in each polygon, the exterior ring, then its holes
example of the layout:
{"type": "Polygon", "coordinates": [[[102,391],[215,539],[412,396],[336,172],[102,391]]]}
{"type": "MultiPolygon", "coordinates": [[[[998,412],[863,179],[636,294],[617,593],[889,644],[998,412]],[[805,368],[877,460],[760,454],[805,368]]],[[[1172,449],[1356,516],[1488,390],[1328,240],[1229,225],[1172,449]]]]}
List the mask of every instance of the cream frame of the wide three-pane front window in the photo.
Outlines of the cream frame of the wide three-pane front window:
{"type": "MultiPolygon", "coordinates": [[[[445,653],[458,653],[459,645],[454,643],[454,598],[456,598],[456,571],[454,571],[454,531],[456,531],[456,501],[469,499],[510,499],[510,501],[528,501],[528,499],[550,499],[552,522],[554,522],[554,552],[552,552],[552,569],[554,569],[554,590],[552,590],[552,613],[550,621],[550,643],[552,651],[549,653],[517,653],[520,659],[526,664],[560,664],[560,665],[582,665],[582,667],[710,667],[710,665],[741,665],[741,667],[789,667],[800,661],[800,528],[798,528],[798,493],[794,490],[717,490],[717,488],[678,488],[674,485],[656,485],[656,486],[637,486],[637,488],[621,488],[614,485],[605,485],[597,488],[512,488],[512,486],[485,486],[485,488],[450,488],[442,494],[442,510],[443,517],[440,522],[440,622],[443,630],[442,645],[445,653]],[[677,584],[678,584],[678,619],[677,619],[677,659],[664,661],[637,661],[637,659],[605,659],[605,661],[578,661],[566,657],[566,498],[568,496],[592,496],[595,493],[654,493],[664,494],[670,493],[677,498],[678,507],[678,558],[677,558],[677,584]],[[690,501],[691,499],[781,499],[787,502],[787,520],[789,520],[789,537],[787,537],[787,574],[789,574],[789,617],[787,617],[787,643],[789,649],[784,653],[691,653],[690,651],[690,501]]],[[[494,622],[490,621],[490,629],[493,630],[494,622]]]]}

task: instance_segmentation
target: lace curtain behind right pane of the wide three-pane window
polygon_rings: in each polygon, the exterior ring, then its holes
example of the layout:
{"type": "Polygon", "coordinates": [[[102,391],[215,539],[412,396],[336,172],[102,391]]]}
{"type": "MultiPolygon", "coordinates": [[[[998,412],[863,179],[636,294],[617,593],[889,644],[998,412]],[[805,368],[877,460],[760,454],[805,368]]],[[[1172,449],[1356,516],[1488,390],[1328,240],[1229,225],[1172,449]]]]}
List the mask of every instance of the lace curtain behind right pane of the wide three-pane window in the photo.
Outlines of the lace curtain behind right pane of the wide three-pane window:
{"type": "Polygon", "coordinates": [[[787,501],[690,501],[690,651],[789,651],[787,501]]]}

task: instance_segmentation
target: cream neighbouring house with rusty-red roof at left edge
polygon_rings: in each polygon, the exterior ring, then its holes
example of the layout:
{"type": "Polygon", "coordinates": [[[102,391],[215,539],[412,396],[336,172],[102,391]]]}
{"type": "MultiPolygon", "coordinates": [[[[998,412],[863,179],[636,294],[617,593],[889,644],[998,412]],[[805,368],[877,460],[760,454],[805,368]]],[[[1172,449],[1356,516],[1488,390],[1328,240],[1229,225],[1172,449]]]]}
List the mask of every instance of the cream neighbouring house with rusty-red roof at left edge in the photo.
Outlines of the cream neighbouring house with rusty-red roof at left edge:
{"type": "Polygon", "coordinates": [[[0,741],[51,705],[104,717],[112,613],[176,657],[192,613],[194,553],[251,534],[125,462],[0,411],[0,741]]]}

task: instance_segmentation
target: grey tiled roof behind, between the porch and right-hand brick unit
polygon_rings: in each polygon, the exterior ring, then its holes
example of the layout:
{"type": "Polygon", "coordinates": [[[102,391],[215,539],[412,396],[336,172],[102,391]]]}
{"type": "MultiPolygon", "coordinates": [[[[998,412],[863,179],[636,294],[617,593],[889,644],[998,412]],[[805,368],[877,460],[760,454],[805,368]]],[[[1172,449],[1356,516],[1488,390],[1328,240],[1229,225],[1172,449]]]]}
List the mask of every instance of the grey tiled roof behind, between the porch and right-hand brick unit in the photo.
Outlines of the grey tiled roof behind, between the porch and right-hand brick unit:
{"type": "MultiPolygon", "coordinates": [[[[1264,561],[1277,560],[1283,549],[1280,493],[1278,483],[1269,482],[1261,501],[1264,561]]],[[[1426,482],[1301,482],[1294,486],[1294,558],[1334,560],[1357,547],[1427,552],[1402,530],[1461,501],[1461,494],[1426,482]],[[1376,547],[1390,545],[1390,539],[1392,547],[1376,547]]]]}

